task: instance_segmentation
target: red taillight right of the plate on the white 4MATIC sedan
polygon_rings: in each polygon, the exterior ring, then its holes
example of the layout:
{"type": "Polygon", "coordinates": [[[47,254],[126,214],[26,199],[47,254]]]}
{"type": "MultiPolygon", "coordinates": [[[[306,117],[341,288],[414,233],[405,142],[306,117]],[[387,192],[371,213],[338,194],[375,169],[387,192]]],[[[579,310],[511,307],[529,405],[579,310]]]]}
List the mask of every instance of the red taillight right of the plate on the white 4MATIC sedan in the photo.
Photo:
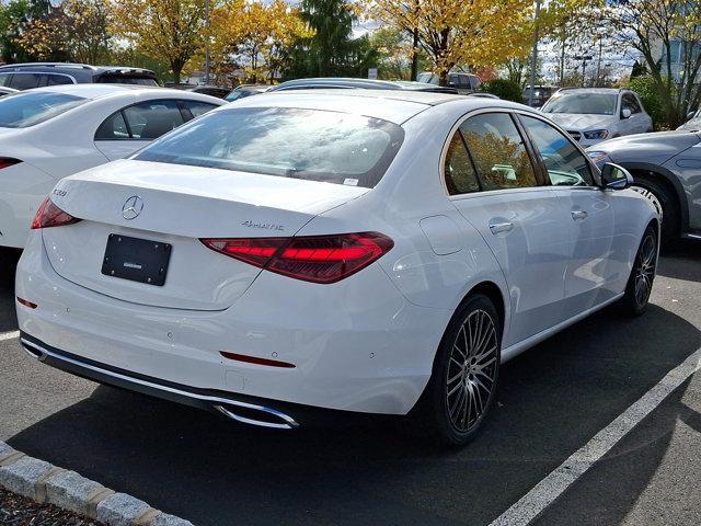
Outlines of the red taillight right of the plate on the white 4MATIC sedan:
{"type": "Polygon", "coordinates": [[[211,250],[260,268],[313,283],[348,277],[394,247],[390,238],[378,232],[200,241],[211,250]]]}

